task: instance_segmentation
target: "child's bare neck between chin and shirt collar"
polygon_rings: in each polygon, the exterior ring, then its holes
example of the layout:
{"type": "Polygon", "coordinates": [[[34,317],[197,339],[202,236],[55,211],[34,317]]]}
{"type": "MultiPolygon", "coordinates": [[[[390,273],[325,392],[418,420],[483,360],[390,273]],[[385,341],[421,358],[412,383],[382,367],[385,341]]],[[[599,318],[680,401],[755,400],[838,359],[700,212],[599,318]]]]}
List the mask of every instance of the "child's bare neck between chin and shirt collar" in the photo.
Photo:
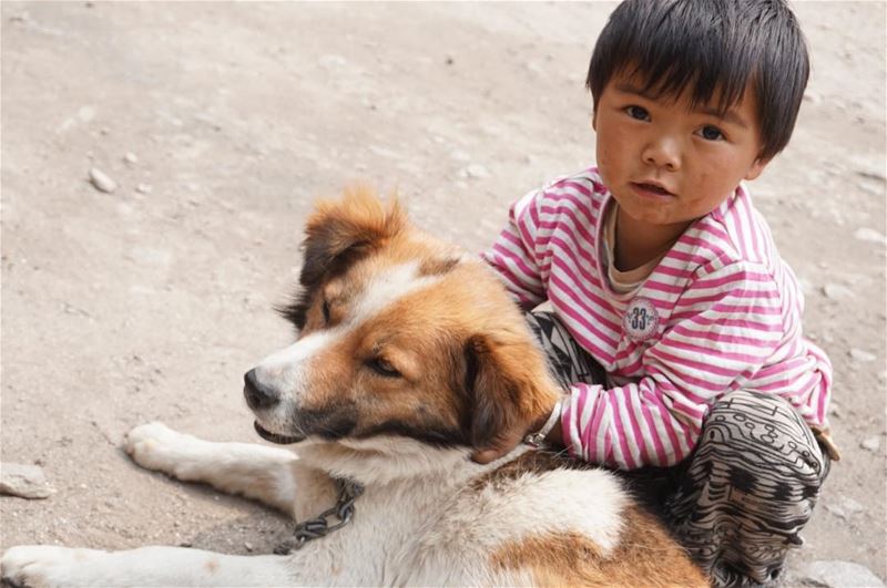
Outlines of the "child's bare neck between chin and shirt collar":
{"type": "Polygon", "coordinates": [[[651,225],[631,218],[616,207],[616,238],[613,262],[619,271],[629,271],[671,249],[692,220],[673,225],[651,225]]]}

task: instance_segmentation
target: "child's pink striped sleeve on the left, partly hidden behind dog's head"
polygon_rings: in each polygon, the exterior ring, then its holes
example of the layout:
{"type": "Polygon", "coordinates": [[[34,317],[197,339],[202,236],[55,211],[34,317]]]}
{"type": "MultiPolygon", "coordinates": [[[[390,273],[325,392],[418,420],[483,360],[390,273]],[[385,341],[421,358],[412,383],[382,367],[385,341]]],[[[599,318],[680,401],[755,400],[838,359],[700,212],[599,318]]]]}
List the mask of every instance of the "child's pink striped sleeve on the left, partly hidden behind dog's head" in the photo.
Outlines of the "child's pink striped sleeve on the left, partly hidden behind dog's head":
{"type": "Polygon", "coordinates": [[[546,286],[539,264],[538,207],[544,190],[533,190],[509,209],[508,225],[481,258],[492,267],[523,310],[546,301],[546,286]]]}

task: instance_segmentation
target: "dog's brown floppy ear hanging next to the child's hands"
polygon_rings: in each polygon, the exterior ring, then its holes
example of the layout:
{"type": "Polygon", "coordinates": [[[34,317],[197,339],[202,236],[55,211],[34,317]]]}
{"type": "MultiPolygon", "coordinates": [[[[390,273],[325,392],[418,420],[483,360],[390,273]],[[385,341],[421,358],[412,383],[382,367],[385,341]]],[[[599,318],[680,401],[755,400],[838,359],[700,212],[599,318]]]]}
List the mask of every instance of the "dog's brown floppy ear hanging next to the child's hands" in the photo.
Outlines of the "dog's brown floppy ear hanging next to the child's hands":
{"type": "Polygon", "coordinates": [[[489,463],[513,450],[557,402],[544,360],[530,340],[471,337],[465,347],[471,399],[471,458],[489,463]]]}

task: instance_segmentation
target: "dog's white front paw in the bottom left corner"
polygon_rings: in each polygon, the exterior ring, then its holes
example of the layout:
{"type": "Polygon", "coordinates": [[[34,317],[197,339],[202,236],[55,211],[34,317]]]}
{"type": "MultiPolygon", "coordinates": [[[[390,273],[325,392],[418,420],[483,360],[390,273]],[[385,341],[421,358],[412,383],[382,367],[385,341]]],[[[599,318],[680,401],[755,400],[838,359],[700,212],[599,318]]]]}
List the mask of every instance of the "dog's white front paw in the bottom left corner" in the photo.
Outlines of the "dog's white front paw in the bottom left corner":
{"type": "Polygon", "coordinates": [[[14,588],[77,586],[78,570],[101,553],[52,545],[10,547],[0,559],[0,577],[14,588]]]}

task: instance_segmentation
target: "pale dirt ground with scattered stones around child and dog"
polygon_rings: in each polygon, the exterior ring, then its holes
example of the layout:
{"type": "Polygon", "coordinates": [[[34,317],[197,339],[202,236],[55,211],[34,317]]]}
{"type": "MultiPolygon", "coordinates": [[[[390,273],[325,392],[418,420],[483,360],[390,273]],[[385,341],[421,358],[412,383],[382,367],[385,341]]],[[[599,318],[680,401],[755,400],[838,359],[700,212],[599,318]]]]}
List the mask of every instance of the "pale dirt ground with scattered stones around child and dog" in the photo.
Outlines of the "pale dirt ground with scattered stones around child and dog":
{"type": "MultiPolygon", "coordinates": [[[[584,73],[612,7],[4,1],[0,457],[58,492],[0,498],[0,548],[269,550],[287,522],[135,467],[123,434],[258,441],[242,375],[293,337],[272,306],[317,196],[396,188],[480,250],[512,199],[589,165],[584,73]]],[[[796,11],[813,78],[752,189],[834,361],[844,460],[792,568],[887,579],[885,3],[796,11]]]]}

